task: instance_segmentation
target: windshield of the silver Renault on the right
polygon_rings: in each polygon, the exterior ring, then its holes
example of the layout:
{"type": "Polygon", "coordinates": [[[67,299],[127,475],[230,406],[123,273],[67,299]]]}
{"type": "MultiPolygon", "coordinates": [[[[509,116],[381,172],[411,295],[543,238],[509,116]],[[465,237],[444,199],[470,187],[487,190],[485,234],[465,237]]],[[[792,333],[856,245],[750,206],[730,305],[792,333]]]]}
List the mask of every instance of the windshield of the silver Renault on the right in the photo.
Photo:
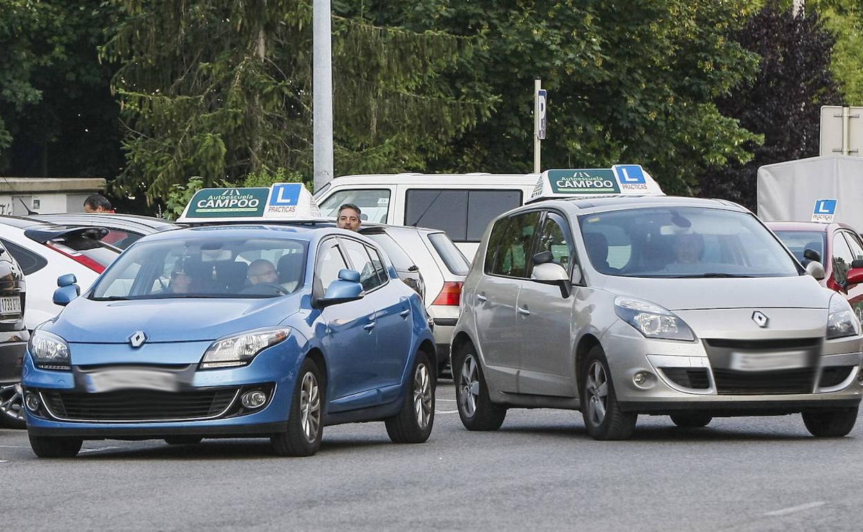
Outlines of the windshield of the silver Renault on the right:
{"type": "Polygon", "coordinates": [[[755,218],[695,207],[615,210],[578,217],[590,263],[622,277],[800,275],[782,244],[755,218]]]}

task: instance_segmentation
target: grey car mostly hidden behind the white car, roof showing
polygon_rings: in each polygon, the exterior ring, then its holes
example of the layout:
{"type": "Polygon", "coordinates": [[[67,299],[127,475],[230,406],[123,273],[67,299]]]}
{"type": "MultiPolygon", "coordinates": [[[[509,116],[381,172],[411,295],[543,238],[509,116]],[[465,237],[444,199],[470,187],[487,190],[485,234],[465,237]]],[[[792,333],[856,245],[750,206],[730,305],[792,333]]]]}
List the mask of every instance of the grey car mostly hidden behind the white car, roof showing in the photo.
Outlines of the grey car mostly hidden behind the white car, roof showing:
{"type": "Polygon", "coordinates": [[[124,214],[88,214],[84,212],[70,212],[63,214],[47,214],[28,216],[42,222],[52,222],[69,226],[91,226],[108,229],[108,234],[102,238],[106,244],[120,249],[132,245],[132,242],[142,236],[152,235],[165,229],[178,227],[173,222],[152,216],[124,215],[124,214]]]}

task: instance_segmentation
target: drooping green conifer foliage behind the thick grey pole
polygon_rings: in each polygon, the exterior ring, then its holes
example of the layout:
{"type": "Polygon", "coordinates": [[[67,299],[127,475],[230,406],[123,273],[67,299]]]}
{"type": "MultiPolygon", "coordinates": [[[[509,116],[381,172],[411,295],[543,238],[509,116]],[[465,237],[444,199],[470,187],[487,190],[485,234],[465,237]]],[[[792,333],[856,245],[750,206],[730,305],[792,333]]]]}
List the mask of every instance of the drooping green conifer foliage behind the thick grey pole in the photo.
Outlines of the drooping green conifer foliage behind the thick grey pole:
{"type": "MultiPolygon", "coordinates": [[[[128,127],[124,183],[151,199],[287,167],[311,173],[310,0],[113,0],[126,17],[104,57],[128,127]]],[[[476,123],[491,103],[438,90],[467,40],[333,16],[337,172],[395,171],[476,123]]]]}

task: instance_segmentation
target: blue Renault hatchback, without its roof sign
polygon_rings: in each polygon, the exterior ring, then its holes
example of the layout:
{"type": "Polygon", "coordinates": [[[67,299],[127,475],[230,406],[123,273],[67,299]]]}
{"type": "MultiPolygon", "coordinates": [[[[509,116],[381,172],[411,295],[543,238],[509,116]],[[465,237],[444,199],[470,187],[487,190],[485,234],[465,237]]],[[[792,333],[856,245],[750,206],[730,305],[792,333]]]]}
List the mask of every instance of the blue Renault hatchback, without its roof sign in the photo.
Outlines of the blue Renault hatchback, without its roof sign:
{"type": "Polygon", "coordinates": [[[324,425],[384,421],[423,442],[437,360],[422,301],[386,254],[334,227],[223,225],[149,235],[34,331],[22,385],[31,447],[89,439],[268,437],[307,456],[324,425]]]}

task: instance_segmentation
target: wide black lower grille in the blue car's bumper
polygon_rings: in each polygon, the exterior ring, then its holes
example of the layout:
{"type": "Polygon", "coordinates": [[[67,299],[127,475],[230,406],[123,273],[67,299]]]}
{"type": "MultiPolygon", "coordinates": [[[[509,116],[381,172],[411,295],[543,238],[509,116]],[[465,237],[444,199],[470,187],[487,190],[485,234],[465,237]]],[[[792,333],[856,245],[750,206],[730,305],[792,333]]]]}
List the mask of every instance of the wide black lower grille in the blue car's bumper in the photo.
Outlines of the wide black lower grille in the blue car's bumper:
{"type": "Polygon", "coordinates": [[[217,417],[228,410],[236,386],[196,391],[124,390],[105,393],[42,391],[50,413],[67,421],[189,421],[217,417]]]}

